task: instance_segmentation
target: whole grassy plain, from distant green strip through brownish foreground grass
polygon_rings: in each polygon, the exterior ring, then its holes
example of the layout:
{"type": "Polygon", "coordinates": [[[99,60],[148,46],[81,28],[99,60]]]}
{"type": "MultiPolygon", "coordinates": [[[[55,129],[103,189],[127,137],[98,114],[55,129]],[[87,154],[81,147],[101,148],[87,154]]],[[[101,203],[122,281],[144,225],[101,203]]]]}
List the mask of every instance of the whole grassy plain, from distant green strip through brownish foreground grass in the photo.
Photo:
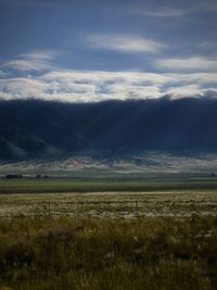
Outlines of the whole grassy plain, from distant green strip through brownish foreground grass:
{"type": "Polygon", "coordinates": [[[216,290],[210,177],[0,180],[1,290],[216,290]]]}

